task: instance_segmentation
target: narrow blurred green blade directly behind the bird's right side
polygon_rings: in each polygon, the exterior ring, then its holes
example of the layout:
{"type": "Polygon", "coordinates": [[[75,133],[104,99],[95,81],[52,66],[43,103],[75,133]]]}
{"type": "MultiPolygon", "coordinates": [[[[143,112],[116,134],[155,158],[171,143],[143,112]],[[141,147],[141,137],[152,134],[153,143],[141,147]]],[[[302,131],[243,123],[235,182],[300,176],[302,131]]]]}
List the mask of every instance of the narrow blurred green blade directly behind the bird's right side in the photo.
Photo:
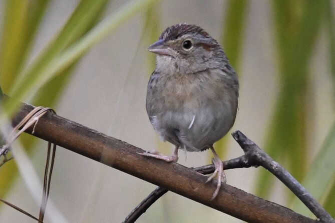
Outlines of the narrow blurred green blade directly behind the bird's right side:
{"type": "MultiPolygon", "coordinates": [[[[229,58],[230,64],[236,69],[239,77],[241,77],[238,70],[244,46],[244,26],[249,2],[247,0],[229,0],[224,13],[226,16],[224,18],[225,25],[221,42],[223,43],[223,49],[229,58]]],[[[215,150],[221,159],[224,159],[226,154],[228,137],[230,137],[230,134],[226,134],[215,143],[215,150]]]]}

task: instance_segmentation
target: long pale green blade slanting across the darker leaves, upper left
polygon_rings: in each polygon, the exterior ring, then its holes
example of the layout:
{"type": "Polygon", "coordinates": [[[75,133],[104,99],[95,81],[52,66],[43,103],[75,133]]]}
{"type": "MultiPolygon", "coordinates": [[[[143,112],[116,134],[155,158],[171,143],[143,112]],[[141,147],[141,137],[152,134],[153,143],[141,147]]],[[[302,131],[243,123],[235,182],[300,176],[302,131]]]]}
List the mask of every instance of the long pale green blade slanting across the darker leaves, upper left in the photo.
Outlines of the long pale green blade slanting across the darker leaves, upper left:
{"type": "Polygon", "coordinates": [[[33,68],[25,71],[22,75],[23,78],[16,84],[11,94],[11,100],[5,103],[7,112],[13,114],[20,101],[30,96],[34,92],[34,89],[39,89],[48,80],[68,68],[92,46],[104,39],[111,31],[134,16],[138,11],[148,8],[154,2],[155,0],[133,0],[128,2],[124,7],[104,19],[90,32],[61,53],[47,59],[42,64],[38,60],[36,63],[38,65],[33,65],[33,68]]]}

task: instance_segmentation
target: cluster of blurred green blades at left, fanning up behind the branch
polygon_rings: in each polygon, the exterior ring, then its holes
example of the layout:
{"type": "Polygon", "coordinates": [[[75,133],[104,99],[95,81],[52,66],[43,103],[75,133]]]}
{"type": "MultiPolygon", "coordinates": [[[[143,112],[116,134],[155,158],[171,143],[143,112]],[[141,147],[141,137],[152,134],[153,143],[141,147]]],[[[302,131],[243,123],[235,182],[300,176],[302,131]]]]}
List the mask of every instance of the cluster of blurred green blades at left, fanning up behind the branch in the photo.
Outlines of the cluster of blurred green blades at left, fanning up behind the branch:
{"type": "MultiPolygon", "coordinates": [[[[35,34],[47,9],[49,0],[6,1],[4,30],[0,45],[0,83],[11,98],[3,105],[12,114],[20,101],[35,93],[33,103],[54,106],[60,98],[73,68],[88,51],[118,25],[127,21],[154,0],[131,1],[105,23],[98,23],[109,0],[81,0],[65,26],[40,53],[35,61],[25,67],[35,34]],[[100,24],[100,26],[98,26],[100,24]],[[98,27],[98,28],[97,28],[98,27]],[[91,35],[90,35],[91,34],[91,35]],[[79,43],[82,43],[80,45],[79,43]],[[83,43],[86,45],[83,46],[83,43]],[[72,50],[72,51],[71,51],[72,50]],[[75,53],[73,53],[75,51],[75,53]],[[53,75],[47,75],[47,73],[53,75]]],[[[4,118],[4,116],[2,116],[4,118]]],[[[1,122],[1,120],[0,120],[1,122]]],[[[34,137],[22,135],[20,140],[31,151],[34,137]]],[[[11,188],[17,175],[14,162],[0,169],[0,196],[11,188]]]]}

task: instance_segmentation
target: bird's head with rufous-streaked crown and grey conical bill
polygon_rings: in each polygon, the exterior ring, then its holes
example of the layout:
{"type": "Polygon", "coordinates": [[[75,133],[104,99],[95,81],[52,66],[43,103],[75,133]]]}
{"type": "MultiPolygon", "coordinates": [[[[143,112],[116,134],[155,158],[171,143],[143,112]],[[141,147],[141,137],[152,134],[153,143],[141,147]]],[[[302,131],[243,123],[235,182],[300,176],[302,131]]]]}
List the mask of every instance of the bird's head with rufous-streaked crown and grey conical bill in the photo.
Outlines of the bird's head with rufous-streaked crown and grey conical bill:
{"type": "Polygon", "coordinates": [[[201,27],[176,24],[166,28],[148,50],[157,54],[157,69],[196,73],[225,64],[220,44],[201,27]]]}

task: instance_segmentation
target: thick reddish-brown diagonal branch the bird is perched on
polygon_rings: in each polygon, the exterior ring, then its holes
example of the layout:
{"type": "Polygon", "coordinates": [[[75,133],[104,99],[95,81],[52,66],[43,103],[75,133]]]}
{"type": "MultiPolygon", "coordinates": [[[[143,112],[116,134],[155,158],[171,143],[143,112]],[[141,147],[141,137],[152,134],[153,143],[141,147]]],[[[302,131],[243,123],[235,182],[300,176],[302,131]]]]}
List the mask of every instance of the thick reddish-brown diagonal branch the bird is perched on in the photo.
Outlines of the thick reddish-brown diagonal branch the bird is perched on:
{"type": "MultiPolygon", "coordinates": [[[[24,104],[12,124],[19,123],[33,108],[24,104]]],[[[228,184],[223,184],[211,201],[216,182],[205,184],[207,176],[178,163],[139,155],[137,152],[144,152],[141,148],[51,112],[38,121],[34,135],[247,222],[318,222],[228,184]]]]}

